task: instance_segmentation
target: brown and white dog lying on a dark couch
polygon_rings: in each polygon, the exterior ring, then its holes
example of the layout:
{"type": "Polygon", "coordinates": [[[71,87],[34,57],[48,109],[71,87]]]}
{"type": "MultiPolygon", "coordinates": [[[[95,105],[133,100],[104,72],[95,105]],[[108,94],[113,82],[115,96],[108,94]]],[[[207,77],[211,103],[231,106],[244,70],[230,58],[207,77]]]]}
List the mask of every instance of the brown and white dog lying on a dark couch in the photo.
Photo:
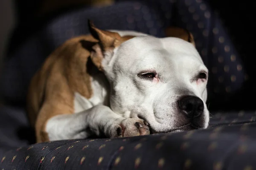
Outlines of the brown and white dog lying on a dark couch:
{"type": "Polygon", "coordinates": [[[64,42],[29,85],[36,142],[204,129],[208,69],[192,34],[102,30],[64,42]]]}

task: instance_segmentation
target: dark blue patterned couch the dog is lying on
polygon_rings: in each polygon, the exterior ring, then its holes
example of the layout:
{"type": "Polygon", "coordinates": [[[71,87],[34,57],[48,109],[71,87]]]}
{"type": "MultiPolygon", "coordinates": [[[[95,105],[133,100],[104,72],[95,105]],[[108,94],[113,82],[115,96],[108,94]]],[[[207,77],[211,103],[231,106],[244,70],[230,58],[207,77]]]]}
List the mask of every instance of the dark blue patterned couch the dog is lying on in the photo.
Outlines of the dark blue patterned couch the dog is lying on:
{"type": "Polygon", "coordinates": [[[112,6],[81,7],[48,20],[23,37],[19,43],[12,39],[0,77],[0,169],[256,168],[256,112],[234,110],[232,105],[248,79],[246,68],[218,16],[204,0],[117,0],[112,6]],[[157,37],[164,37],[168,26],[191,31],[209,69],[209,128],[34,144],[25,109],[29,81],[58,45],[89,33],[87,19],[102,29],[136,30],[157,37]]]}

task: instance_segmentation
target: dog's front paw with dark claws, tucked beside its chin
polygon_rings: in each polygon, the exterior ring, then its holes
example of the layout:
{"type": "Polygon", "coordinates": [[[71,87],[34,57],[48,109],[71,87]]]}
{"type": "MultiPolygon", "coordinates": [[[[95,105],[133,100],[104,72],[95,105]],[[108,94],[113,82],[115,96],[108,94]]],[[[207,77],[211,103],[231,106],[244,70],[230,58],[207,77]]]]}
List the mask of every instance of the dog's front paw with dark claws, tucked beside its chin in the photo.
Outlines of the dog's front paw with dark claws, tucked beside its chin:
{"type": "Polygon", "coordinates": [[[139,118],[126,118],[120,123],[112,125],[111,138],[149,135],[148,123],[139,118]]]}

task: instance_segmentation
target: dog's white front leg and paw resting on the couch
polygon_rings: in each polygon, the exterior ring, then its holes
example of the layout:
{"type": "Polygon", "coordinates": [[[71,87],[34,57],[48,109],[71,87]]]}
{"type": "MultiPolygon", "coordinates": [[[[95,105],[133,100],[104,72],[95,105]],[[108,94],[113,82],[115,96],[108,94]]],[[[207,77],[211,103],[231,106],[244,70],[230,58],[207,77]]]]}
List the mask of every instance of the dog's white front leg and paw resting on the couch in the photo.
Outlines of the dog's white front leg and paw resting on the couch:
{"type": "Polygon", "coordinates": [[[54,116],[47,121],[50,141],[83,139],[92,135],[125,137],[149,134],[147,122],[139,118],[125,118],[109,107],[97,105],[79,113],[54,116]]]}

